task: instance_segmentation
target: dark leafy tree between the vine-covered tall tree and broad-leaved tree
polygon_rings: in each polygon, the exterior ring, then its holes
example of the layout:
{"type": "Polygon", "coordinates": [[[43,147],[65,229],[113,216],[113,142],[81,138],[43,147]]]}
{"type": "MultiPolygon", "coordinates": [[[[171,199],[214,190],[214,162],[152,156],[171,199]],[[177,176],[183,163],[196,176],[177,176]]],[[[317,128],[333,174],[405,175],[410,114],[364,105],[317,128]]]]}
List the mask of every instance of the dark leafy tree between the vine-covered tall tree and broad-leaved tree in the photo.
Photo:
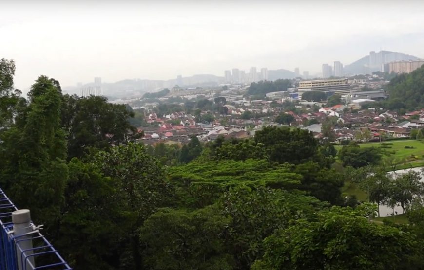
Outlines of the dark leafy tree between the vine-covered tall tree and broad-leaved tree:
{"type": "Polygon", "coordinates": [[[118,226],[120,210],[113,199],[115,183],[77,158],[68,168],[55,244],[74,269],[113,269],[103,258],[113,257],[111,250],[123,233],[118,226]]]}

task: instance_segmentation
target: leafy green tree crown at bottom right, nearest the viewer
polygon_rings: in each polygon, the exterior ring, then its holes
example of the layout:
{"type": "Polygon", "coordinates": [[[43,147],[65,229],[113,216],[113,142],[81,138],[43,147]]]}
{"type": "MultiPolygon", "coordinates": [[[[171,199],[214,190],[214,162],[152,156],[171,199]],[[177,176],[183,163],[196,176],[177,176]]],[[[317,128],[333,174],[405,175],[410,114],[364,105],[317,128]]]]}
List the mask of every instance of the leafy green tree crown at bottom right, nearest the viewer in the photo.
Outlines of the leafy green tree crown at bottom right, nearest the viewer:
{"type": "Polygon", "coordinates": [[[264,243],[266,252],[252,270],[418,269],[415,235],[370,223],[357,210],[334,208],[317,221],[299,220],[264,243]]]}

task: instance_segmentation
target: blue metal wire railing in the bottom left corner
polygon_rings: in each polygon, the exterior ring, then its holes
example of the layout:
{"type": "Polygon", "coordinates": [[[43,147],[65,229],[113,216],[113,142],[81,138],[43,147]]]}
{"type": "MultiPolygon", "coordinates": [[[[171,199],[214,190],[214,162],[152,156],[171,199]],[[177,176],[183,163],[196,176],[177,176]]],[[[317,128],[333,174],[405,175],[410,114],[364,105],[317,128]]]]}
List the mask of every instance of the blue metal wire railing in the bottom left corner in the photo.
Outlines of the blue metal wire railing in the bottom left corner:
{"type": "Polygon", "coordinates": [[[16,210],[18,208],[0,189],[0,270],[20,270],[19,266],[22,270],[72,270],[32,222],[31,232],[14,235],[12,212],[16,210]],[[32,241],[32,248],[22,249],[25,245],[21,244],[28,241],[32,241]]]}

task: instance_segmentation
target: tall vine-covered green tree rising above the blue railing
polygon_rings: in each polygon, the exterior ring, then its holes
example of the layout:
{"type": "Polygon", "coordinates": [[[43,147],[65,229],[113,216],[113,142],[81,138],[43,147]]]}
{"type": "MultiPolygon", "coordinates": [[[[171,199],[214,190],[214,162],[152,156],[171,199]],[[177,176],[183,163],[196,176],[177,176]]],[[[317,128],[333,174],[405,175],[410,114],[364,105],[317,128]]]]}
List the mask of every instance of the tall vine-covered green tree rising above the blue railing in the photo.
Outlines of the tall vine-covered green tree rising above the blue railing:
{"type": "Polygon", "coordinates": [[[60,128],[61,93],[40,76],[28,93],[30,103],[3,135],[7,153],[1,182],[19,208],[30,208],[39,222],[57,220],[67,179],[66,140],[60,128]]]}

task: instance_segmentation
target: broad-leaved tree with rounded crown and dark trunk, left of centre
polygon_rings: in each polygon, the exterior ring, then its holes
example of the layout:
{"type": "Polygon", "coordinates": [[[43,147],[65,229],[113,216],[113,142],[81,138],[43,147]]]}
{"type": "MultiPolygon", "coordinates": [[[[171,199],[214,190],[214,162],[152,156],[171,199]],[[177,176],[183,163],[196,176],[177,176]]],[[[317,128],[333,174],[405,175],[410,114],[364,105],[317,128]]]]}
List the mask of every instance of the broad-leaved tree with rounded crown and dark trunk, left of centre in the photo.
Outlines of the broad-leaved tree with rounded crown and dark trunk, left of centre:
{"type": "MultiPolygon", "coordinates": [[[[93,159],[94,166],[115,180],[116,203],[122,212],[119,225],[126,232],[121,244],[125,252],[121,266],[142,269],[138,228],[158,207],[164,206],[170,185],[165,180],[158,161],[148,155],[142,144],[129,143],[100,151],[93,159]]],[[[122,251],[122,250],[121,250],[122,251]]]]}

